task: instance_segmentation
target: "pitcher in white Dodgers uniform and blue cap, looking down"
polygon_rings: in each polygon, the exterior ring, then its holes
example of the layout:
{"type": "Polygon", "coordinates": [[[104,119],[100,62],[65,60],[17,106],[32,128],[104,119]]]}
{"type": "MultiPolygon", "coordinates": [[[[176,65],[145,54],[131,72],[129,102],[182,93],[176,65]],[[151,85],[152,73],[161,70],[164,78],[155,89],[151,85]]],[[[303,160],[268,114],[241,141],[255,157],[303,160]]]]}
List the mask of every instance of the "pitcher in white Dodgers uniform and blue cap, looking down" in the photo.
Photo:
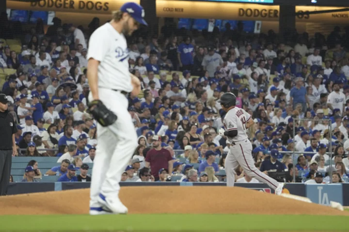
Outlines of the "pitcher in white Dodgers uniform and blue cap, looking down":
{"type": "Polygon", "coordinates": [[[118,197],[119,182],[138,145],[136,130],[127,111],[127,93],[138,95],[141,84],[128,71],[125,36],[131,35],[140,24],[147,25],[143,7],[127,2],[112,13],[110,23],[99,27],[90,38],[88,107],[98,121],[90,215],[127,213],[127,207],[118,197]]]}

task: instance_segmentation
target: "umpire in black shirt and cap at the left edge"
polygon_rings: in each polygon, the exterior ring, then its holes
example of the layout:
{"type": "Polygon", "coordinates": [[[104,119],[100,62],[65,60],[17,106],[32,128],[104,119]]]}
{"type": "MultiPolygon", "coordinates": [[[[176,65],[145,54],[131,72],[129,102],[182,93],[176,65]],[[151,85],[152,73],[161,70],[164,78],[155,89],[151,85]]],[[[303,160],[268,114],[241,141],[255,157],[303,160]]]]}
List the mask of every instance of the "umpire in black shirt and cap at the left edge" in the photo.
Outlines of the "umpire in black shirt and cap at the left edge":
{"type": "Polygon", "coordinates": [[[0,93],[0,196],[7,195],[10,182],[12,156],[17,155],[15,133],[17,126],[7,110],[7,96],[0,93]]]}

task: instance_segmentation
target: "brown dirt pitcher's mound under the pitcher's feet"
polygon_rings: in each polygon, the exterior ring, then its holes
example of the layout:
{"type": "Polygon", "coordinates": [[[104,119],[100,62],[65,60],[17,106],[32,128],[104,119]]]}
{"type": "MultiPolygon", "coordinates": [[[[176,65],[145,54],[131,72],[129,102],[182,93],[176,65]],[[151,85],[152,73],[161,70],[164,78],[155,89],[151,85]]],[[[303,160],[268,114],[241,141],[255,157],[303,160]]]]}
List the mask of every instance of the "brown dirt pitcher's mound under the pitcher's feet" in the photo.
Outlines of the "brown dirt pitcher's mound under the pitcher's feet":
{"type": "MultiPolygon", "coordinates": [[[[88,214],[90,189],[0,197],[0,215],[88,214]]],[[[122,187],[130,214],[347,215],[327,206],[241,187],[122,187]]]]}

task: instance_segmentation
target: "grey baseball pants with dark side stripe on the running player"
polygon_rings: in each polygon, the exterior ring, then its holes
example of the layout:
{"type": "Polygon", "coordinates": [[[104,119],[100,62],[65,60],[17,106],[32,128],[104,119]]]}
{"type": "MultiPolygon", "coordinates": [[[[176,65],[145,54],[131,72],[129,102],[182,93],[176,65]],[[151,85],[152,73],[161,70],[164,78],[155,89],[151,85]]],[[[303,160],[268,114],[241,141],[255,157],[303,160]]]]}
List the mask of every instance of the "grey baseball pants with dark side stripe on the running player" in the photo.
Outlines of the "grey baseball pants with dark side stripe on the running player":
{"type": "Polygon", "coordinates": [[[234,186],[236,174],[235,169],[238,165],[241,166],[247,175],[256,178],[259,182],[266,183],[274,190],[279,185],[276,180],[270,178],[254,166],[252,144],[248,139],[235,142],[235,145],[232,144],[230,146],[224,164],[227,176],[227,186],[234,186]]]}

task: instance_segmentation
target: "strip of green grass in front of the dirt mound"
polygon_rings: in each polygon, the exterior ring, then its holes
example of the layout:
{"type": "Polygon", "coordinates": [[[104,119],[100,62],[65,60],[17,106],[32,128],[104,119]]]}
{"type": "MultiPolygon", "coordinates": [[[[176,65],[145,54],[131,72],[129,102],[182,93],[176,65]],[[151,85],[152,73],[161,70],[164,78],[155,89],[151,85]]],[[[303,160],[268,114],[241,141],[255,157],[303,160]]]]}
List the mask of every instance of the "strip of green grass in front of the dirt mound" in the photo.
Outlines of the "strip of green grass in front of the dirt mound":
{"type": "Polygon", "coordinates": [[[0,216],[6,232],[349,231],[345,216],[288,215],[58,215],[0,216]]]}

